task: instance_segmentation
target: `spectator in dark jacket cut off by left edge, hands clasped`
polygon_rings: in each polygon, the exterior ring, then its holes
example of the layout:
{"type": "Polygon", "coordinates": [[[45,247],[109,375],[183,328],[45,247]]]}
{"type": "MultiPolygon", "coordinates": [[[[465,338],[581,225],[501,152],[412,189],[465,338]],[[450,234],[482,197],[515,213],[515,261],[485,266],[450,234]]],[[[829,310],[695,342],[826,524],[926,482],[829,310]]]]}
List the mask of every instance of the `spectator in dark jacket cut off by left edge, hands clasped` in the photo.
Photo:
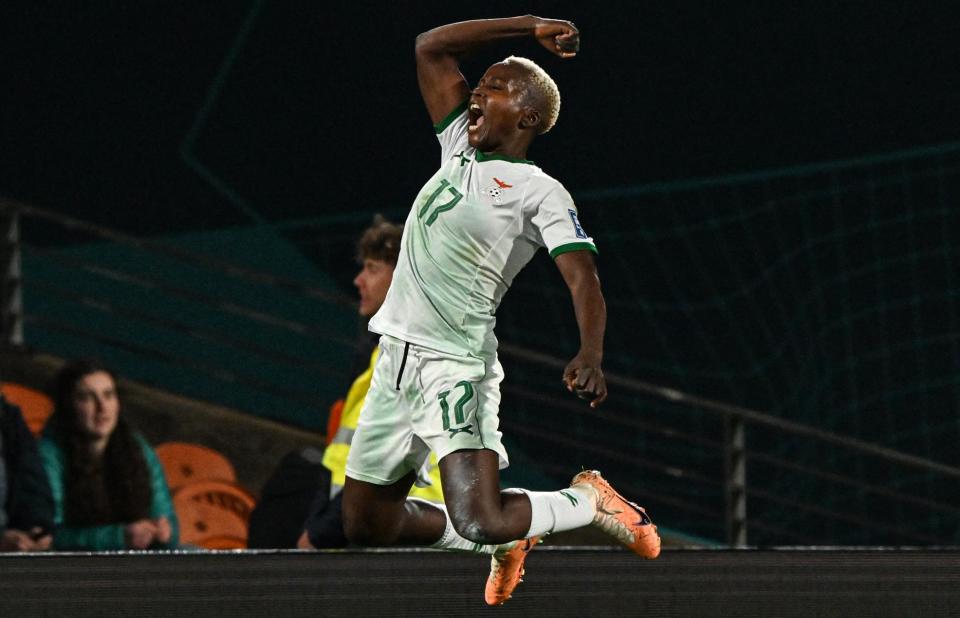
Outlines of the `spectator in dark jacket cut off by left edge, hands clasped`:
{"type": "Polygon", "coordinates": [[[0,395],[0,551],[50,548],[53,497],[20,408],[0,395]]]}

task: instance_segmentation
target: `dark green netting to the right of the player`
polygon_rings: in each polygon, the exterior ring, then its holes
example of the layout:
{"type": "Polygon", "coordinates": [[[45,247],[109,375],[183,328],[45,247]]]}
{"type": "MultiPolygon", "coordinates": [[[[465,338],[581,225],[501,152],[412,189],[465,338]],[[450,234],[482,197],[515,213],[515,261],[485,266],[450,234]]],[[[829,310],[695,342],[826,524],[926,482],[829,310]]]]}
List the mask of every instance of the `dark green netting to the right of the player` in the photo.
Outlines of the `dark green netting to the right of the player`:
{"type": "MultiPolygon", "coordinates": [[[[955,465],[958,191],[960,144],[575,192],[600,250],[605,369],[955,465]]],[[[497,332],[576,352],[545,256],[497,332]]],[[[502,418],[523,456],[602,466],[664,523],[723,538],[722,418],[623,389],[593,413],[556,368],[503,356],[502,418]]],[[[771,429],[746,442],[751,543],[960,538],[953,478],[771,429]]]]}

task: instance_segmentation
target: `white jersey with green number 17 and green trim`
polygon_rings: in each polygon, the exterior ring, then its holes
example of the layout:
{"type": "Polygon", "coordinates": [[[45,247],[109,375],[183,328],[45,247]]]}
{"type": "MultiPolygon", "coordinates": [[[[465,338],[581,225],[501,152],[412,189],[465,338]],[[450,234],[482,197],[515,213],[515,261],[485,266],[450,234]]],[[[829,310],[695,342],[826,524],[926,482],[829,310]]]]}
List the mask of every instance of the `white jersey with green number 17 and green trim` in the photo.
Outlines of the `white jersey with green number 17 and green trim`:
{"type": "Polygon", "coordinates": [[[540,247],[596,252],[573,199],[532,161],[467,142],[467,104],[434,128],[440,170],[407,216],[393,282],[370,330],[457,356],[496,353],[496,309],[540,247]]]}

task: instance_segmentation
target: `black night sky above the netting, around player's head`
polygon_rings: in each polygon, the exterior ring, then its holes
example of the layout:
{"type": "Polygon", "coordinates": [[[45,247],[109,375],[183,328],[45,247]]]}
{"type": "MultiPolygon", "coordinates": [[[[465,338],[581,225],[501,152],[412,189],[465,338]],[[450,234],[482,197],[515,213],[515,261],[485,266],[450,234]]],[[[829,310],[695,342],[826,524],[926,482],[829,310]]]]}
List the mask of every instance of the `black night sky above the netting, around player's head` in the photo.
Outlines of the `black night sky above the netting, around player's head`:
{"type": "Polygon", "coordinates": [[[573,20],[580,56],[512,42],[468,78],[514,51],[554,75],[531,158],[574,196],[949,141],[948,5],[4,3],[0,191],[147,235],[403,209],[435,163],[414,37],[523,12],[573,20]]]}

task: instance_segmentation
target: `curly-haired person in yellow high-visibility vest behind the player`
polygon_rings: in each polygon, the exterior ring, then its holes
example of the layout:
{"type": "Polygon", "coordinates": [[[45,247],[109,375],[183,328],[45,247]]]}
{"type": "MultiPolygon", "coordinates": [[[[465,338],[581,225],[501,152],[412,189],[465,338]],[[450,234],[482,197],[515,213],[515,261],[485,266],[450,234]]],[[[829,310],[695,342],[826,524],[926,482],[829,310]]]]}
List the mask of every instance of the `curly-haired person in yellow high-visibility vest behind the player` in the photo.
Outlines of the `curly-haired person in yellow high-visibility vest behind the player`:
{"type": "MultiPolygon", "coordinates": [[[[390,223],[381,216],[373,220],[373,225],[364,231],[358,243],[357,258],[361,264],[353,284],[360,294],[360,316],[370,318],[380,309],[386,298],[393,269],[400,254],[400,238],[403,226],[390,223]]],[[[373,367],[377,362],[380,349],[376,345],[379,337],[372,337],[370,344],[370,362],[366,370],[353,381],[347,397],[331,408],[331,418],[327,425],[328,445],[323,454],[323,466],[330,471],[330,488],[320,489],[310,506],[310,514],[304,523],[303,533],[297,541],[300,549],[321,549],[344,547],[347,539],[343,533],[341,498],[346,478],[347,454],[350,442],[357,428],[360,409],[370,389],[373,367]]],[[[436,453],[431,453],[427,463],[421,468],[411,497],[435,503],[443,503],[443,491],[440,488],[440,468],[436,453]]]]}

